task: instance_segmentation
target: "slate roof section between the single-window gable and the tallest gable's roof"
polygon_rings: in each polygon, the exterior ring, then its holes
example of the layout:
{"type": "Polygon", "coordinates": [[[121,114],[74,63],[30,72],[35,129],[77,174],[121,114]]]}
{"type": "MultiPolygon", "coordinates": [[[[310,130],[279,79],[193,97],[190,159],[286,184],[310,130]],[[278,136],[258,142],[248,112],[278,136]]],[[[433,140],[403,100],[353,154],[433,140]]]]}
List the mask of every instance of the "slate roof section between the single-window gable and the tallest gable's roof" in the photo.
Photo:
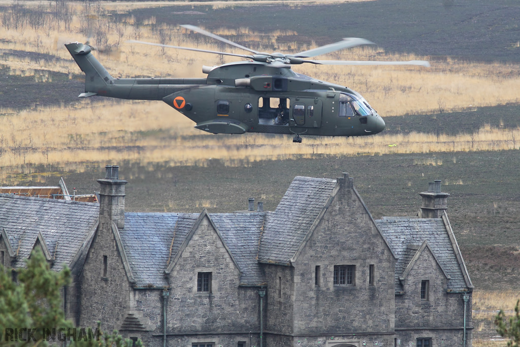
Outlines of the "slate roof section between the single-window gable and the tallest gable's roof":
{"type": "Polygon", "coordinates": [[[265,279],[256,255],[265,213],[216,213],[210,217],[240,267],[241,284],[263,284],[265,279]]]}

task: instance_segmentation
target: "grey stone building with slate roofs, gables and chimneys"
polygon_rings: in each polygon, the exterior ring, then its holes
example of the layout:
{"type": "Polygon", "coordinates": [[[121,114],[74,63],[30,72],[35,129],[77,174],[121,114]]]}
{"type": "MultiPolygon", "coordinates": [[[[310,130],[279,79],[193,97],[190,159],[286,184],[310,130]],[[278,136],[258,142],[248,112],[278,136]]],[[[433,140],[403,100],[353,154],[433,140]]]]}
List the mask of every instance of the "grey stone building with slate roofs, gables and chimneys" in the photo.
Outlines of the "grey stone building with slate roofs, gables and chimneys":
{"type": "Polygon", "coordinates": [[[0,195],[0,260],[71,267],[64,307],[146,346],[471,346],[473,285],[440,181],[415,217],[374,220],[353,179],[295,177],[275,211],[125,212],[0,195]]]}

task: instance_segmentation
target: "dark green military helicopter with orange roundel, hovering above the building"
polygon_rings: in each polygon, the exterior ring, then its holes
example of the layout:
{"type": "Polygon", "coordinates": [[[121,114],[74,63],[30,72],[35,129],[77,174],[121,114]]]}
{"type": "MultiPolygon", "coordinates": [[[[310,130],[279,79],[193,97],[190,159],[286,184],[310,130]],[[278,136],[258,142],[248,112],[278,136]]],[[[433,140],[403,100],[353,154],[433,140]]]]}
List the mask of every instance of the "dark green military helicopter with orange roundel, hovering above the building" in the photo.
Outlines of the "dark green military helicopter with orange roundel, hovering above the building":
{"type": "Polygon", "coordinates": [[[382,132],[385,122],[360,94],[352,89],[299,74],[292,65],[418,65],[427,61],[346,61],[307,58],[340,49],[372,44],[363,38],[340,42],[296,54],[257,52],[193,25],[181,25],[248,51],[233,54],[213,50],[162,45],[141,41],[132,43],[187,49],[247,59],[221,66],[203,66],[206,78],[113,78],[92,55],[87,44],[65,46],[85,72],[85,93],[138,100],[163,100],[197,123],[196,128],[214,134],[275,133],[301,135],[365,136],[382,132]]]}

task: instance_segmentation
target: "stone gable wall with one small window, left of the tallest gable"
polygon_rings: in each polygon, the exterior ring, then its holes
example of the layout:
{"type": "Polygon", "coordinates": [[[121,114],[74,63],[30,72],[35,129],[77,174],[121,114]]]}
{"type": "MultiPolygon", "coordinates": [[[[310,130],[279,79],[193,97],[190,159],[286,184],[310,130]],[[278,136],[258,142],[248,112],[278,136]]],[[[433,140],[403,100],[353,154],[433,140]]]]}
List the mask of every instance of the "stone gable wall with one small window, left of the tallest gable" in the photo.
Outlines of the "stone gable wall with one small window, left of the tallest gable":
{"type": "Polygon", "coordinates": [[[257,288],[239,287],[239,269],[207,217],[179,252],[169,276],[168,333],[197,336],[218,331],[249,336],[250,331],[258,332],[257,288]],[[211,292],[197,292],[199,272],[212,274],[211,292]]]}

